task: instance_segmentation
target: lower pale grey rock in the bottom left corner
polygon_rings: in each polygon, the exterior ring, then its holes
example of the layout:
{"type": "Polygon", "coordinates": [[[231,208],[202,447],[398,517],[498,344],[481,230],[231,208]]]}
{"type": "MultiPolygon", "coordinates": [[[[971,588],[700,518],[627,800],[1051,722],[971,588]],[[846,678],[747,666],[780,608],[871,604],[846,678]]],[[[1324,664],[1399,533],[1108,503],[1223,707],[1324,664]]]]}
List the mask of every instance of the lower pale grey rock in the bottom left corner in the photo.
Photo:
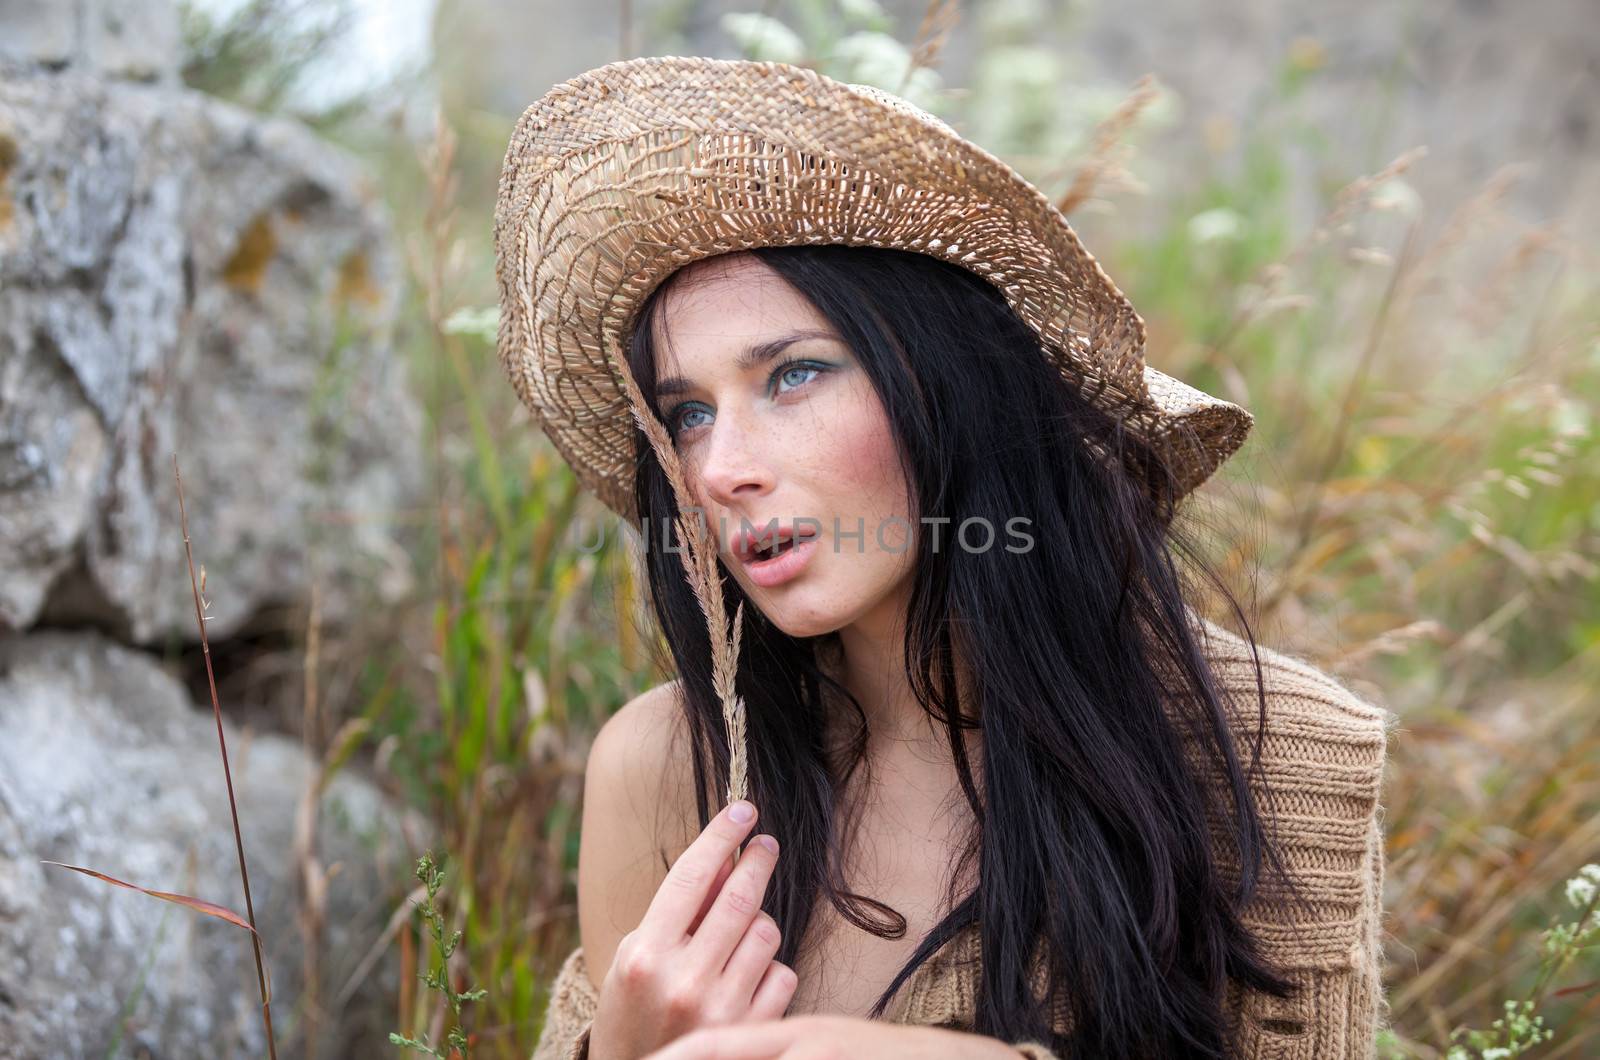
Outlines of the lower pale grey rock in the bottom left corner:
{"type": "MultiPolygon", "coordinates": [[[[299,745],[226,725],[245,853],[272,977],[280,1055],[296,1041],[304,940],[294,817],[299,745]]],[[[358,970],[408,890],[424,826],[336,773],[322,802],[328,887],[318,1054],[387,1055],[397,969],[358,970]],[[411,833],[414,839],[406,839],[411,833]],[[381,1047],[379,1047],[381,1044],[381,1047]]],[[[261,1057],[245,930],[67,869],[195,895],[243,914],[214,721],[146,653],[93,632],[0,640],[0,1057],[261,1057]]]]}

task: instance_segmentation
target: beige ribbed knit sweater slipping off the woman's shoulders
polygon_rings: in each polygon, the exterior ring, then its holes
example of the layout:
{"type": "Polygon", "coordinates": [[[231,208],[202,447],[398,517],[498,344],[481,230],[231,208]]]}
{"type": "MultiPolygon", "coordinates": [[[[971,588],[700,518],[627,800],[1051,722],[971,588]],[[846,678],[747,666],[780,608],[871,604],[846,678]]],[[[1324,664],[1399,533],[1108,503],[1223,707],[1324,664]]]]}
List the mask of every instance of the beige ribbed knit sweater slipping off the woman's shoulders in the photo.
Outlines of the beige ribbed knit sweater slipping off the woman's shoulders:
{"type": "MultiPolygon", "coordinates": [[[[1248,765],[1258,732],[1256,671],[1250,645],[1202,623],[1213,673],[1240,706],[1234,737],[1248,765]]],[[[1298,999],[1229,985],[1234,1055],[1245,1060],[1370,1060],[1374,1036],[1389,1022],[1379,946],[1384,882],[1379,804],[1387,733],[1394,714],[1373,706],[1310,665],[1261,647],[1267,693],[1262,780],[1275,799],[1269,826],[1296,882],[1312,903],[1307,916],[1274,892],[1245,908],[1266,954],[1302,985],[1298,999]]],[[[1213,777],[1219,773],[1210,770],[1213,777]]],[[[1256,786],[1258,796],[1261,786],[1256,786]]],[[[1224,804],[1229,801],[1224,796],[1224,804]]],[[[1237,879],[1237,861],[1218,857],[1237,879]]],[[[978,929],[968,927],[930,958],[891,1001],[883,1018],[971,1030],[979,974],[978,929]]],[[[586,1060],[598,993],[582,948],[555,977],[533,1060],[586,1060]]],[[[1066,1031],[1058,1025],[1058,1031],[1066,1031]]],[[[1038,1042],[1014,1042],[1030,1060],[1056,1060],[1038,1042]]]]}

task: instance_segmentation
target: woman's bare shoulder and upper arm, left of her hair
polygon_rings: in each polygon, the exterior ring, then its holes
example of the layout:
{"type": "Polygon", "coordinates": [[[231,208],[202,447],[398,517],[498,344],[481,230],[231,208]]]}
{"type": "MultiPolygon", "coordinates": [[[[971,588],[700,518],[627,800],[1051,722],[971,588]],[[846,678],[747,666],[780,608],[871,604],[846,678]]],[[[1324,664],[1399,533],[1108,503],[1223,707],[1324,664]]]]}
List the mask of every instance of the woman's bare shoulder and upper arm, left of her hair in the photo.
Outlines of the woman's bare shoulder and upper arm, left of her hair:
{"type": "Polygon", "coordinates": [[[678,682],[669,681],[606,719],[584,769],[578,927],[597,988],[698,834],[688,727],[678,682]]]}

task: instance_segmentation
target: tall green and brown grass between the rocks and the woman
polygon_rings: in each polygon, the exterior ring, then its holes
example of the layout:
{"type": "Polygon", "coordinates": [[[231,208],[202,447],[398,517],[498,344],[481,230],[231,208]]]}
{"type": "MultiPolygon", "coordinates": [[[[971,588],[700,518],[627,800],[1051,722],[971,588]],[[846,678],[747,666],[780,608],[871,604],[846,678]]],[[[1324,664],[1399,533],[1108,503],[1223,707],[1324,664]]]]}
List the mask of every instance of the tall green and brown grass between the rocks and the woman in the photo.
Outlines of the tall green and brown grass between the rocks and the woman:
{"type": "MultiPolygon", "coordinates": [[[[491,280],[470,272],[491,251],[458,248],[490,229],[454,229],[454,175],[475,162],[443,133],[419,167],[387,170],[402,239],[421,251],[424,295],[405,301],[402,335],[427,418],[429,504],[410,549],[419,600],[368,632],[360,698],[386,775],[456,858],[462,956],[490,988],[482,1018],[509,1028],[478,1052],[525,1060],[550,954],[571,938],[565,917],[539,914],[576,869],[587,738],[661,673],[632,620],[624,524],[581,493],[496,360],[491,280]]],[[[499,138],[504,151],[502,136],[472,149],[499,138]]],[[[482,221],[488,203],[466,207],[482,221]]]]}

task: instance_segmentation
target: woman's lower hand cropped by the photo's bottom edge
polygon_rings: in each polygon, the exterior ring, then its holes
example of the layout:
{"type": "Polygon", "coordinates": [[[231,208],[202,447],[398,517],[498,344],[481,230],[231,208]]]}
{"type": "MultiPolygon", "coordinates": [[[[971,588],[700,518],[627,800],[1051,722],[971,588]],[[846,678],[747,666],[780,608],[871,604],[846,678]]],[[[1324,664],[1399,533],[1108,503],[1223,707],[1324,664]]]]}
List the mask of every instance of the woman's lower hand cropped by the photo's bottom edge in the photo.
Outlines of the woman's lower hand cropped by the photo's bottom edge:
{"type": "Polygon", "coordinates": [[[1018,1060],[1022,1054],[998,1038],[944,1026],[885,1023],[846,1015],[795,1015],[787,1020],[702,1028],[646,1060],[1018,1060]]]}

